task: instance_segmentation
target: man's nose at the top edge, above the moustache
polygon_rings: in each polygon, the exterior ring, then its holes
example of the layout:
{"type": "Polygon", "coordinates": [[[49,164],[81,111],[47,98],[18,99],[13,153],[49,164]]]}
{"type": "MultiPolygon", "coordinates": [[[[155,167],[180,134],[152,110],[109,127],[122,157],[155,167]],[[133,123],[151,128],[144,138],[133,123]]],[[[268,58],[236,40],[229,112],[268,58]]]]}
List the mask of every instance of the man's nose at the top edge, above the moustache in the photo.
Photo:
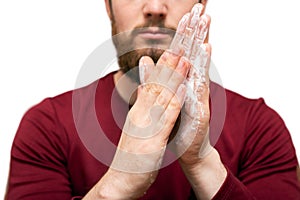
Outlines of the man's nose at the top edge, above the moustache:
{"type": "Polygon", "coordinates": [[[166,0],[146,0],[143,14],[145,18],[153,22],[165,19],[167,15],[166,0]]]}

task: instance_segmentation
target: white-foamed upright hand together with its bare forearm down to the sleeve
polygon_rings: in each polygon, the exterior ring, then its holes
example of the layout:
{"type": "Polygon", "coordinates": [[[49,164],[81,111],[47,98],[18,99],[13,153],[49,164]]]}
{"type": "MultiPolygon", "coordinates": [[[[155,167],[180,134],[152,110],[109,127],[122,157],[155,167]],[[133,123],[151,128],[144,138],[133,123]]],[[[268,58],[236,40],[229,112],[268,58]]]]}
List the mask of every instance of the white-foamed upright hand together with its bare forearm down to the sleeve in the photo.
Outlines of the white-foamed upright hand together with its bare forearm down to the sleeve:
{"type": "MultiPolygon", "coordinates": [[[[209,141],[209,65],[211,47],[204,43],[210,17],[194,6],[179,24],[175,36],[192,63],[187,80],[187,97],[175,137],[181,167],[199,199],[212,199],[223,184],[227,172],[218,152],[209,141]],[[198,21],[198,25],[194,25],[198,21]]],[[[173,43],[174,44],[174,43],[173,43]]],[[[177,45],[173,45],[178,49],[177,45]]]]}

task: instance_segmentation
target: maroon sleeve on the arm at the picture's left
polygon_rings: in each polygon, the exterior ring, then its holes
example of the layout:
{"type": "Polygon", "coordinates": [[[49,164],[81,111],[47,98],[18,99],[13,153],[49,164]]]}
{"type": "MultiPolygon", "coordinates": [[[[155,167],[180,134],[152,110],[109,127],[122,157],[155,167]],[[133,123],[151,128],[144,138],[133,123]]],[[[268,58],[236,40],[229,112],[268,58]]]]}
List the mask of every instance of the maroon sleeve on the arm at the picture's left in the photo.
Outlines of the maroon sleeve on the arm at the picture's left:
{"type": "Polygon", "coordinates": [[[31,108],[12,145],[5,199],[72,199],[66,142],[49,99],[31,108]]]}

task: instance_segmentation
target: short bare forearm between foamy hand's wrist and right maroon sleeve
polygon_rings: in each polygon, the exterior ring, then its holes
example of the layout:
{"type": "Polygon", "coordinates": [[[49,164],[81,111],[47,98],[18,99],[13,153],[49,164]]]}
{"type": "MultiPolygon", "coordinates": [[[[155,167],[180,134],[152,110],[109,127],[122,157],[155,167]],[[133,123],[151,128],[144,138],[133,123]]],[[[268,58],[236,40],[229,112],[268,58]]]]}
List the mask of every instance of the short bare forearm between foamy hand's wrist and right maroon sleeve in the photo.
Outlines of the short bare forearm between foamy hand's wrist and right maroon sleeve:
{"type": "Polygon", "coordinates": [[[197,199],[212,199],[227,176],[226,168],[215,149],[197,164],[187,166],[181,163],[181,166],[197,199]]]}

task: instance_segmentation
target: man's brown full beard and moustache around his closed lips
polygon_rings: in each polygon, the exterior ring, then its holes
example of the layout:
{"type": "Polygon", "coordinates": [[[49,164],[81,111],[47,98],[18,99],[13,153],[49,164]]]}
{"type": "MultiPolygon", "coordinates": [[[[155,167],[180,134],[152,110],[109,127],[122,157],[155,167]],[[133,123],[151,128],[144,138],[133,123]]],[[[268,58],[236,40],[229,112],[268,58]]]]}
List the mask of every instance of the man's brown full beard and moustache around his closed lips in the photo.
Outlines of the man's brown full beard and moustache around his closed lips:
{"type": "Polygon", "coordinates": [[[138,40],[138,33],[152,26],[149,21],[147,24],[136,27],[132,31],[119,32],[115,20],[112,20],[112,37],[113,43],[117,50],[118,64],[120,70],[136,83],[140,83],[139,77],[139,60],[143,56],[149,56],[154,63],[157,63],[163,52],[169,47],[175,28],[166,28],[163,22],[160,22],[157,27],[170,35],[170,39],[157,40],[138,40]]]}

